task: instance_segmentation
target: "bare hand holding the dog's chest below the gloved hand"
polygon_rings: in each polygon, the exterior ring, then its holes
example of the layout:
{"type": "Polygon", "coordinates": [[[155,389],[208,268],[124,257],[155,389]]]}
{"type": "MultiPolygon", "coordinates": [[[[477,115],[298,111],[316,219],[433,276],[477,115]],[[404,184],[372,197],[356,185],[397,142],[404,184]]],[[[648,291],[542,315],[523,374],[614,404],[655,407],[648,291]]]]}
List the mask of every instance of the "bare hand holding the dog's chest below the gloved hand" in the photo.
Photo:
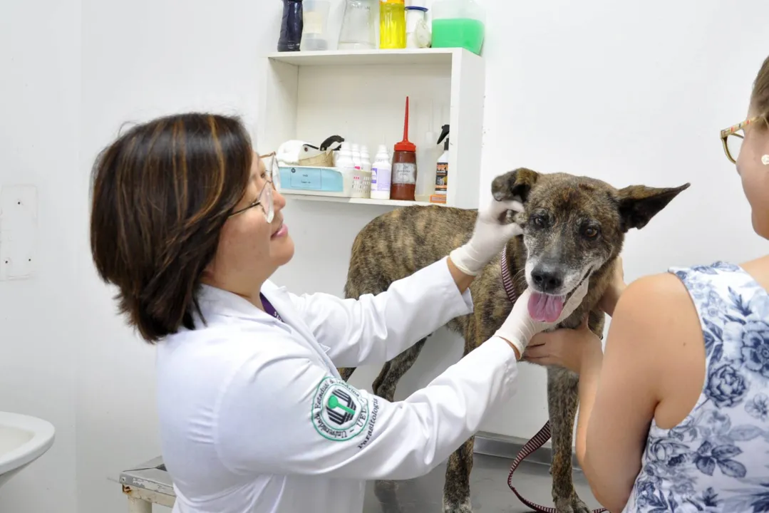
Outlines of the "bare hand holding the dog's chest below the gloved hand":
{"type": "Polygon", "coordinates": [[[588,316],[575,329],[558,329],[531,338],[523,360],[537,365],[558,365],[581,373],[596,358],[601,358],[601,339],[588,328],[588,316]]]}

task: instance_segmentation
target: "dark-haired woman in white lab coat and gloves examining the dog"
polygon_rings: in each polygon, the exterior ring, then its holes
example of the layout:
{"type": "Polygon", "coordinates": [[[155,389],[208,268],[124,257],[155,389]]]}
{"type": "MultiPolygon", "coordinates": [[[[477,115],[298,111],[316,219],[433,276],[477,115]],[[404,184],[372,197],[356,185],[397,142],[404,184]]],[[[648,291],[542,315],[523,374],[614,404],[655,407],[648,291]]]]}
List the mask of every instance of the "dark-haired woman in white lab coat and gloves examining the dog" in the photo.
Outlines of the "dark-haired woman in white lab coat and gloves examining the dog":
{"type": "Polygon", "coordinates": [[[351,387],[336,368],[384,364],[472,311],[474,275],[521,232],[498,218],[521,205],[492,200],[466,245],[380,295],[297,296],[269,281],[294,254],[269,162],[237,119],[188,114],[132,128],[95,164],[92,254],[158,343],[177,513],[360,513],[365,480],[424,475],[474,435],[550,326],[523,295],[494,337],[404,401],[351,387]]]}

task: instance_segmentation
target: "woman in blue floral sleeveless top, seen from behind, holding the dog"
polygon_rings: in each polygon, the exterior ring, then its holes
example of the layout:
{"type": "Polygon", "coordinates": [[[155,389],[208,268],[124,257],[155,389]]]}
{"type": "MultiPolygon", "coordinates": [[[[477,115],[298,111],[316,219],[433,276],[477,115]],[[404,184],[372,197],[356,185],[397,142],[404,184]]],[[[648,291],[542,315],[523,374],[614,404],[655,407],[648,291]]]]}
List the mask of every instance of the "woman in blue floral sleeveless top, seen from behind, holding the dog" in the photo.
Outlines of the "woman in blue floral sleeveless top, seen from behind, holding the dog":
{"type": "MultiPolygon", "coordinates": [[[[749,105],[721,138],[769,238],[769,58],[749,105]]],[[[626,289],[620,266],[605,355],[584,327],[531,341],[525,359],[580,373],[577,455],[609,511],[769,511],[767,288],[769,256],[626,289]]]]}

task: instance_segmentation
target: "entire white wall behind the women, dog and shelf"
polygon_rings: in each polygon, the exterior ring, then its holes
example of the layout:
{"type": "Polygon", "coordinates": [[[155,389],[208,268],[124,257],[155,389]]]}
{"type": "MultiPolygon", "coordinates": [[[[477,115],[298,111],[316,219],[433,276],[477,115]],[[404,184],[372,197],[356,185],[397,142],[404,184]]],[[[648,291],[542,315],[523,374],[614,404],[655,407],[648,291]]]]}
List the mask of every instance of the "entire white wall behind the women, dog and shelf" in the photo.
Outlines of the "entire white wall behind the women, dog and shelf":
{"type": "MultiPolygon", "coordinates": [[[[484,198],[493,175],[518,165],[618,186],[688,181],[692,188],[628,238],[628,278],[765,252],[718,130],[744,116],[769,52],[769,4],[481,3],[488,9],[484,198]]],[[[0,185],[38,187],[40,251],[35,278],[0,281],[0,409],[48,418],[58,435],[48,455],[0,490],[0,511],[124,511],[108,476],[158,455],[154,351],[115,317],[113,291],[92,270],[90,165],[123,122],[167,112],[239,112],[255,131],[257,58],[275,48],[280,9],[260,0],[58,0],[3,12],[0,185]],[[75,214],[65,215],[67,208],[75,214]],[[33,313],[41,306],[48,307],[42,320],[33,313]]],[[[380,212],[293,202],[285,215],[298,254],[276,281],[341,295],[352,238],[380,212]],[[368,217],[354,218],[361,214],[368,217]]],[[[397,398],[460,354],[456,338],[429,341],[397,398]]],[[[362,368],[353,381],[368,387],[377,371],[362,368]]],[[[544,373],[527,367],[518,397],[485,428],[528,437],[545,411],[544,373]]]]}

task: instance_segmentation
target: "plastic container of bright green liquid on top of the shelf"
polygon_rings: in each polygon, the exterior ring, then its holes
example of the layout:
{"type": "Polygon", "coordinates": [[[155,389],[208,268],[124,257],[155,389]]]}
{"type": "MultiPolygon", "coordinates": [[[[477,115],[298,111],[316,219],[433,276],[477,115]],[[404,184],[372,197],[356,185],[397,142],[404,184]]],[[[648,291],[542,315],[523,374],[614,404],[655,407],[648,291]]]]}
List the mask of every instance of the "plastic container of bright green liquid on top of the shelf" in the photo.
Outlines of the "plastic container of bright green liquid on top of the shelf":
{"type": "Polygon", "coordinates": [[[432,6],[432,47],[466,48],[481,55],[486,13],[473,0],[436,0],[432,6]]]}

